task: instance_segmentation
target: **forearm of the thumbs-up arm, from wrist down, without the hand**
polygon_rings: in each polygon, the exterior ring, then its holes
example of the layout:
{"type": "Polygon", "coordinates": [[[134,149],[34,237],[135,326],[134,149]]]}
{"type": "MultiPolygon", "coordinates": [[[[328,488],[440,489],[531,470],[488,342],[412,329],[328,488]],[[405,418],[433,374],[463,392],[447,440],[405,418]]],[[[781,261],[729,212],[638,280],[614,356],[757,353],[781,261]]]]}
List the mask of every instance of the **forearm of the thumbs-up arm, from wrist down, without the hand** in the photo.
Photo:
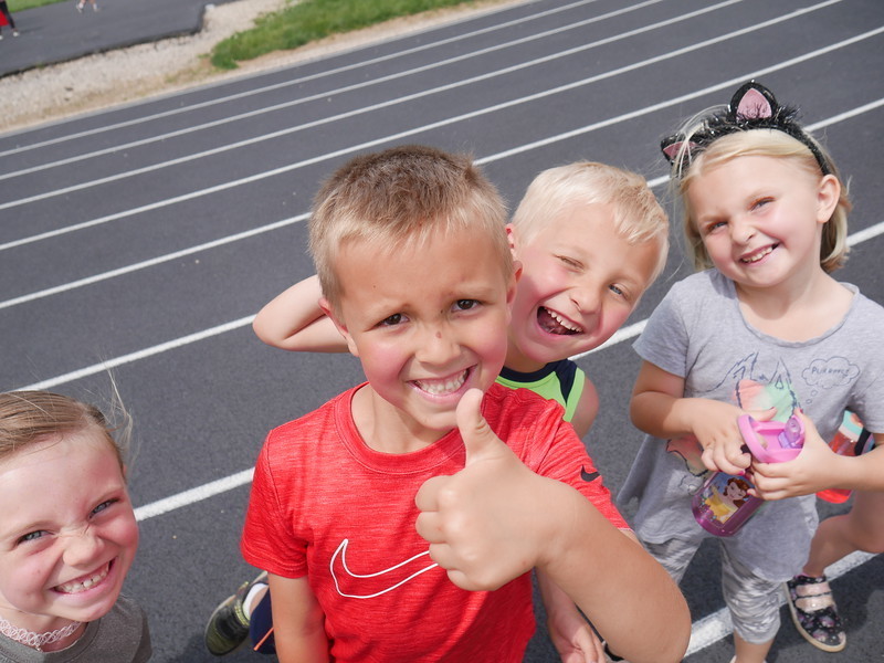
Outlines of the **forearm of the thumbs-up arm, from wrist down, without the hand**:
{"type": "Polygon", "coordinates": [[[681,661],[691,615],[675,582],[577,492],[540,568],[632,663],[681,661]]]}

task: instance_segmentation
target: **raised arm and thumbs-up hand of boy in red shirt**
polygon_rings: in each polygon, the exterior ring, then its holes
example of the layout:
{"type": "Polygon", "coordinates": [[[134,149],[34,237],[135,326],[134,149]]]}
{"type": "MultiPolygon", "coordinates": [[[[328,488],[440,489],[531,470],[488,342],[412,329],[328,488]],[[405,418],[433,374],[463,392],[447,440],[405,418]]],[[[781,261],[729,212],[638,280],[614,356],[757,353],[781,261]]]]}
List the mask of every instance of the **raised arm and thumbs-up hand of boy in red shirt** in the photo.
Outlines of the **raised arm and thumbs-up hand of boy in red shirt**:
{"type": "Polygon", "coordinates": [[[457,406],[466,466],[418,492],[418,533],[449,578],[492,590],[537,567],[565,590],[618,654],[632,663],[681,661],[687,604],[641,546],[578,491],[528,470],[482,418],[482,393],[457,406]]]}

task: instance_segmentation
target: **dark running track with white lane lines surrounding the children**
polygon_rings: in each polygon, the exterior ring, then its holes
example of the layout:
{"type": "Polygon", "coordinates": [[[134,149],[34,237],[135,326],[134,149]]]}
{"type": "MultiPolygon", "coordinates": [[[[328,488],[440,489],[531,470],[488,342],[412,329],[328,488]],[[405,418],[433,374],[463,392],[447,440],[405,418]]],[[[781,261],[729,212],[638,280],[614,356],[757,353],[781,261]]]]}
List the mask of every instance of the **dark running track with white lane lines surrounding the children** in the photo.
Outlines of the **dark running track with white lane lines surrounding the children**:
{"type": "MultiPolygon", "coordinates": [[[[855,201],[839,277],[884,302],[883,69],[878,0],[539,0],[2,135],[0,388],[95,400],[113,375],[137,425],[141,546],[126,591],[150,617],[155,660],[210,661],[206,619],[254,573],[238,539],[265,432],[361,378],[349,356],[287,354],[250,328],[312,273],[302,221],[325,175],[425,143],[472,152],[513,207],[536,172],[568,161],[648,177],[673,212],[669,266],[622,333],[578,359],[601,396],[585,442],[617,491],[641,440],[625,413],[630,341],[691,273],[660,138],[753,77],[798,103],[855,201]]],[[[683,582],[691,663],[732,654],[717,564],[704,546],[683,582]]],[[[881,557],[832,575],[848,649],[806,644],[783,609],[770,663],[884,661],[881,557]]],[[[541,628],[526,661],[555,660],[541,628]]]]}

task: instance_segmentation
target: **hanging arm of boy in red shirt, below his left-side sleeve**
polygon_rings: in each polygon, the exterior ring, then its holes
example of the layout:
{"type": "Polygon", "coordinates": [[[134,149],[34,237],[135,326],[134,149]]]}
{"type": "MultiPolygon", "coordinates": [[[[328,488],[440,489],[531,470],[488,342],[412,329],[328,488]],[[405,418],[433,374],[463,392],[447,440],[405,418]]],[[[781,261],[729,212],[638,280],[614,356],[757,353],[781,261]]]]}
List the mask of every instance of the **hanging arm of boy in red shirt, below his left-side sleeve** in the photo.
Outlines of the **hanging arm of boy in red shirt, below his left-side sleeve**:
{"type": "Polygon", "coordinates": [[[328,663],[325,615],[303,578],[267,576],[273,597],[273,638],[281,663],[328,663]]]}

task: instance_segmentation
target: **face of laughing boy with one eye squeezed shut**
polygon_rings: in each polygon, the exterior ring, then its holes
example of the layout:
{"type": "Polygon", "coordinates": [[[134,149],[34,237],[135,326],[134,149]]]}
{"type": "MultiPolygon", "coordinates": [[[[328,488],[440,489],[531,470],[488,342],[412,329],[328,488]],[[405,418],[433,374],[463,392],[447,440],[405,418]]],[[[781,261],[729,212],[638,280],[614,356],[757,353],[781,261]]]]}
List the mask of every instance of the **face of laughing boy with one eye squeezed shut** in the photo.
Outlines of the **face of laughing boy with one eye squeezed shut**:
{"type": "Polygon", "coordinates": [[[621,238],[608,204],[576,204],[520,241],[523,272],[513,304],[507,368],[529,372],[608,340],[651,284],[654,241],[621,238]]]}

